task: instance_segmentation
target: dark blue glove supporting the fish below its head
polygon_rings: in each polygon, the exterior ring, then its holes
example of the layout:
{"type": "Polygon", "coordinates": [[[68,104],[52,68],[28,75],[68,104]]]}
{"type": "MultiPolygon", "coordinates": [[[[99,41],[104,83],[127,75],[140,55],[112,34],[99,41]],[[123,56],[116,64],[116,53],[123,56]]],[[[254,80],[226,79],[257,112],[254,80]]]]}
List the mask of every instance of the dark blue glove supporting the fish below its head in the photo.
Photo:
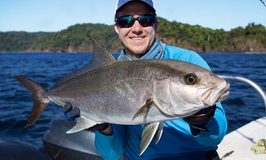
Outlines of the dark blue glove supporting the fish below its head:
{"type": "Polygon", "coordinates": [[[213,118],[216,110],[216,105],[210,106],[208,108],[201,109],[194,115],[183,118],[184,121],[189,123],[191,134],[194,136],[199,135],[200,130],[208,131],[205,125],[213,118]]]}

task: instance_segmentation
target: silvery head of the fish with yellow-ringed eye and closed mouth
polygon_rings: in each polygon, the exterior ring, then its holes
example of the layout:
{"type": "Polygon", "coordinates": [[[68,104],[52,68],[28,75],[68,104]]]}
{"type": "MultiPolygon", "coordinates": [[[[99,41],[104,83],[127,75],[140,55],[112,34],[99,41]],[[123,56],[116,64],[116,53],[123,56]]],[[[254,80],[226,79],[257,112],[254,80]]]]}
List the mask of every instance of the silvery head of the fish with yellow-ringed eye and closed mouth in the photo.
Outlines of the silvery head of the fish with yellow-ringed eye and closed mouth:
{"type": "Polygon", "coordinates": [[[154,81],[155,105],[166,115],[190,116],[229,96],[230,84],[211,71],[192,66],[154,81]]]}

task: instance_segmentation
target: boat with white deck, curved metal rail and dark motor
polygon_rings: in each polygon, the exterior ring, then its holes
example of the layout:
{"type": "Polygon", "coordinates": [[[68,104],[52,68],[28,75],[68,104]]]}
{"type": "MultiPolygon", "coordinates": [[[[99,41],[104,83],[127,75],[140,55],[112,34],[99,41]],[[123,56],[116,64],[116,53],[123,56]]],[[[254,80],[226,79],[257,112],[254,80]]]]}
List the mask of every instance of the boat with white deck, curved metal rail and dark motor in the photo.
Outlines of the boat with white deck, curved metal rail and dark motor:
{"type": "MultiPolygon", "coordinates": [[[[220,76],[226,80],[248,83],[263,98],[266,107],[265,92],[253,81],[243,77],[220,76]]],[[[103,160],[95,149],[93,131],[82,130],[72,134],[66,131],[75,125],[74,121],[64,117],[52,120],[49,130],[42,137],[43,149],[17,140],[0,140],[0,159],[17,160],[103,160]]],[[[225,135],[218,145],[217,153],[221,160],[266,160],[266,154],[254,154],[251,147],[260,139],[266,139],[266,117],[253,120],[225,135]]],[[[120,160],[125,160],[122,155],[120,160]]]]}

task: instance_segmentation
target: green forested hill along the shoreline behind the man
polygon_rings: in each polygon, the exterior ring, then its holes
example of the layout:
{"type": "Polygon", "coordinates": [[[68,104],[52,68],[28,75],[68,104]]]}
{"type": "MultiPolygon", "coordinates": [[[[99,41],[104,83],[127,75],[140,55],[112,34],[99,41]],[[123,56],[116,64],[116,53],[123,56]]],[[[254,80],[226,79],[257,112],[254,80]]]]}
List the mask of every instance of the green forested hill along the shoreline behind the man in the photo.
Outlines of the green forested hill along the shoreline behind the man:
{"type": "MultiPolygon", "coordinates": [[[[0,32],[0,52],[91,52],[93,45],[87,33],[102,44],[116,36],[112,25],[91,23],[70,26],[60,32],[0,32]]],[[[227,32],[169,22],[159,17],[157,38],[166,44],[197,52],[266,53],[266,28],[254,23],[227,32]]],[[[118,38],[107,49],[119,52],[122,45],[118,38]]]]}

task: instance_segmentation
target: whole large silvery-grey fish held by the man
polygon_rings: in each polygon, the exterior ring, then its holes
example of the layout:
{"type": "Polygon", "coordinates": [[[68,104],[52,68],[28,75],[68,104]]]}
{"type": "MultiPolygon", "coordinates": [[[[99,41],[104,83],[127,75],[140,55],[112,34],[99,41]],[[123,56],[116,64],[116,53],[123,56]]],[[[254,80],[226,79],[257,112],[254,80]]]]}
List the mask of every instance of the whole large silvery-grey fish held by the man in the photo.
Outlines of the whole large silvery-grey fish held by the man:
{"type": "Polygon", "coordinates": [[[144,124],[140,155],[156,143],[163,122],[184,118],[229,96],[225,80],[197,65],[173,59],[116,61],[93,37],[89,65],[58,80],[50,90],[23,76],[14,76],[32,93],[34,104],[26,127],[52,101],[80,109],[73,133],[99,123],[144,124]]]}

